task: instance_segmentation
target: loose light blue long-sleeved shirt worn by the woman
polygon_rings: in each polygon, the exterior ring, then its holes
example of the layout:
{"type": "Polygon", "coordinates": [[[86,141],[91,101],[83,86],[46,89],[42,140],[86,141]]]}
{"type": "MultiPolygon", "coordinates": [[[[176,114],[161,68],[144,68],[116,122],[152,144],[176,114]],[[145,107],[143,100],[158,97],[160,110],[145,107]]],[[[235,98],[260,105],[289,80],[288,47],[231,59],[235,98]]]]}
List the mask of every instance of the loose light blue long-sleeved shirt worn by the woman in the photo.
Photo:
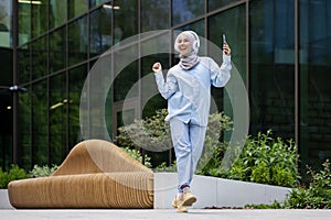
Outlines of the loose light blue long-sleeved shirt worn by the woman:
{"type": "Polygon", "coordinates": [[[168,100],[166,121],[177,118],[184,123],[207,125],[211,106],[211,85],[224,87],[229,80],[231,56],[223,55],[220,67],[212,58],[201,57],[200,63],[189,70],[179,65],[169,69],[167,80],[162,72],[156,73],[161,96],[168,100]]]}

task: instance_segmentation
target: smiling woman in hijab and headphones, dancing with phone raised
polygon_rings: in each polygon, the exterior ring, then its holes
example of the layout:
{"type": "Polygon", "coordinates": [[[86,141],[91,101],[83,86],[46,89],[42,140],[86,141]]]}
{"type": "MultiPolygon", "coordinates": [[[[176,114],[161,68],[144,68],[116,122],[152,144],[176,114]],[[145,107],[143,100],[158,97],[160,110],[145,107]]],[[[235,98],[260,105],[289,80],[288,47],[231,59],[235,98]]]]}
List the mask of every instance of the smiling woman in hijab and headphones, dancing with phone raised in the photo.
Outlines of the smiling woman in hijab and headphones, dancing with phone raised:
{"type": "Polygon", "coordinates": [[[174,41],[180,62],[169,69],[167,80],[162,66],[152,66],[161,96],[168,100],[168,116],[178,170],[178,195],[172,206],[186,212],[196,197],[190,185],[201,157],[207,127],[211,86],[224,87],[229,80],[231,48],[223,44],[223,64],[220,67],[210,57],[197,55],[200,40],[195,32],[181,32],[174,41]]]}

